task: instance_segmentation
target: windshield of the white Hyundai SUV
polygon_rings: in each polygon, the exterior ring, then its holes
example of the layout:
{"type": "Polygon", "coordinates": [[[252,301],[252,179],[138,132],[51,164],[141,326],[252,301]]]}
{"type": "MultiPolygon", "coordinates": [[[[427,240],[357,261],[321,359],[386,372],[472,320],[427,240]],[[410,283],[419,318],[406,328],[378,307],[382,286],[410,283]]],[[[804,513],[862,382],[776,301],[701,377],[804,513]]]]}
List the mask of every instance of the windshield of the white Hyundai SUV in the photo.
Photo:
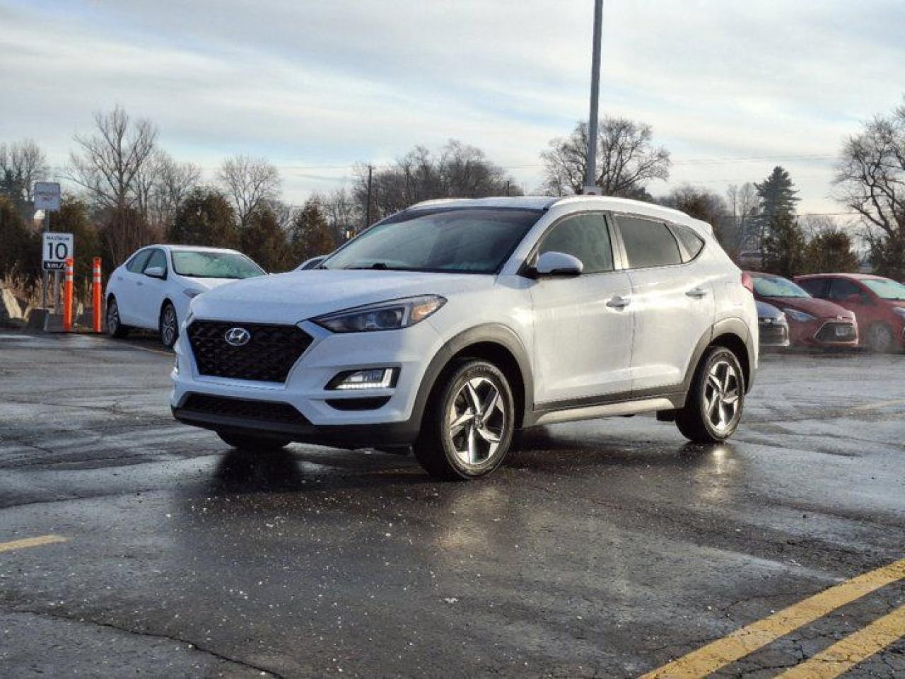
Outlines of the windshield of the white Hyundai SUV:
{"type": "Polygon", "coordinates": [[[496,273],[542,214],[481,207],[402,213],[371,227],[321,267],[496,273]]]}

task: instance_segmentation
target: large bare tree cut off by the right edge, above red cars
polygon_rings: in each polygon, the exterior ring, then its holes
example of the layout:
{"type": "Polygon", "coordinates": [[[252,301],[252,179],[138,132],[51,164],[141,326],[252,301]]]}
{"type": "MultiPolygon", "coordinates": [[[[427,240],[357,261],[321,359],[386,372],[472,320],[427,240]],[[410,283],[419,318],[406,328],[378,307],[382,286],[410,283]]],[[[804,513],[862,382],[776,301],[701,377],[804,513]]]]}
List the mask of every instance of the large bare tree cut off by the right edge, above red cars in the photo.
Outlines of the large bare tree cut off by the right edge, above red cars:
{"type": "Polygon", "coordinates": [[[905,277],[905,104],[843,146],[837,199],[861,215],[874,266],[905,277]]]}

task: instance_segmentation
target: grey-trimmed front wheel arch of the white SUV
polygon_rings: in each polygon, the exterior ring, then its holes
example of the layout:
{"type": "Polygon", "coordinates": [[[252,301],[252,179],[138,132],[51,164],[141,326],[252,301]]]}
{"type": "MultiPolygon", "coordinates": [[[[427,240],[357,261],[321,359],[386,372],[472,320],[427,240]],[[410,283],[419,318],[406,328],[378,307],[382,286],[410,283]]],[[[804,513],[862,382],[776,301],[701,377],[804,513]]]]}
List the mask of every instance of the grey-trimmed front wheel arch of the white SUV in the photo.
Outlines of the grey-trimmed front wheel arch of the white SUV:
{"type": "Polygon", "coordinates": [[[443,385],[443,377],[460,359],[483,359],[500,368],[510,382],[516,402],[516,427],[520,427],[525,413],[534,405],[534,383],[527,349],[514,330],[501,324],[465,330],[447,341],[437,352],[424,373],[415,397],[412,416],[418,426],[421,426],[434,393],[443,385]]]}

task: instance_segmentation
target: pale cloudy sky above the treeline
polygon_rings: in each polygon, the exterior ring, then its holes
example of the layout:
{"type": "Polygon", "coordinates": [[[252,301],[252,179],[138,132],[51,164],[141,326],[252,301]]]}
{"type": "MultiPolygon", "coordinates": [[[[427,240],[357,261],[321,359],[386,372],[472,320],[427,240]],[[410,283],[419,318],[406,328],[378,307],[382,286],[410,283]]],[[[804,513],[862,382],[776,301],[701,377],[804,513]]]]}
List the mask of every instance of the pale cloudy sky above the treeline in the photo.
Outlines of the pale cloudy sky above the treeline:
{"type": "MultiPolygon", "coordinates": [[[[177,159],[249,153],[285,198],[461,139],[531,191],[586,118],[592,0],[0,0],[0,141],[62,165],[93,110],[153,120],[177,159]]],[[[834,156],[905,93],[903,0],[605,0],[601,107],[653,125],[669,185],[789,169],[841,212],[834,156]]]]}

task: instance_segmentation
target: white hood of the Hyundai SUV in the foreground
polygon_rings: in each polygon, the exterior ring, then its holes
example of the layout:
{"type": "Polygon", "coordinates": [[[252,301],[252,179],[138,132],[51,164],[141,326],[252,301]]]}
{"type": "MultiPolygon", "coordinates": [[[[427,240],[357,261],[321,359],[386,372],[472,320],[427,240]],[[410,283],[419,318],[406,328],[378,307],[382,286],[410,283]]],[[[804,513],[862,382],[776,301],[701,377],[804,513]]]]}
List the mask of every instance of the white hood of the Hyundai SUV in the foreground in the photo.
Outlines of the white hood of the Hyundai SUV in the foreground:
{"type": "Polygon", "coordinates": [[[488,288],[493,275],[314,269],[277,273],[224,285],[192,301],[192,313],[210,320],[297,323],[330,311],[414,295],[488,288]]]}

